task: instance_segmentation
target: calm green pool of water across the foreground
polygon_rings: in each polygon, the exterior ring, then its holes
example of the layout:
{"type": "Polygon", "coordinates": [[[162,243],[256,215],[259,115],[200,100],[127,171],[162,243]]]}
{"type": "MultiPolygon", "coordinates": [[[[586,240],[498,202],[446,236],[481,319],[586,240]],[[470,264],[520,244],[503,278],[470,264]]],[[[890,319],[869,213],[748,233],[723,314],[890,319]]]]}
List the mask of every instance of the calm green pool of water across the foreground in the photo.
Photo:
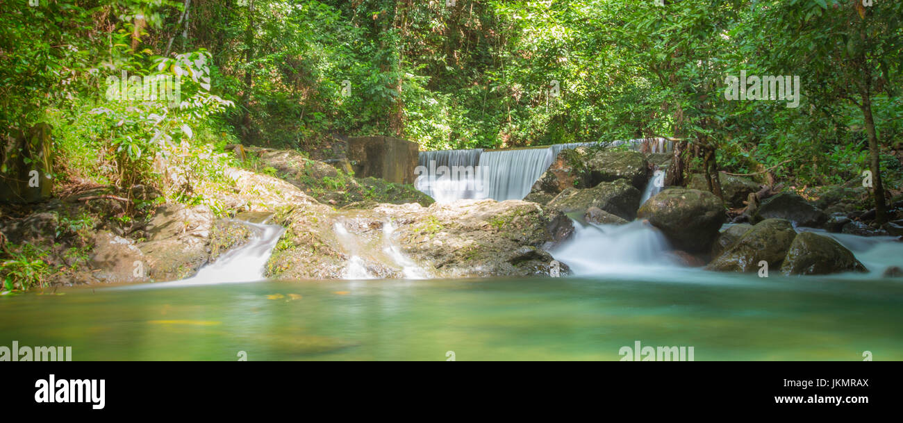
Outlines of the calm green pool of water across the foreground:
{"type": "Polygon", "coordinates": [[[0,297],[0,345],[83,360],[903,360],[897,280],[636,277],[254,282],[0,297]]]}

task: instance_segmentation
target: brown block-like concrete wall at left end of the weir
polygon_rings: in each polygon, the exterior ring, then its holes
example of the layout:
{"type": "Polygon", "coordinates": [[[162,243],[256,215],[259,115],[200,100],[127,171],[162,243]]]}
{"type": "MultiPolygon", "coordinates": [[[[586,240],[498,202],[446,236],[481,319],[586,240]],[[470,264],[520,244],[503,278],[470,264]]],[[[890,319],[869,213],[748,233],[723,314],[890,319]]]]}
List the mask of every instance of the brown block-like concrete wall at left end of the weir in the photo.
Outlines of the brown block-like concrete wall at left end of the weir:
{"type": "Polygon", "coordinates": [[[373,176],[392,183],[414,183],[420,147],[391,136],[348,138],[348,159],[358,178],[373,176]]]}

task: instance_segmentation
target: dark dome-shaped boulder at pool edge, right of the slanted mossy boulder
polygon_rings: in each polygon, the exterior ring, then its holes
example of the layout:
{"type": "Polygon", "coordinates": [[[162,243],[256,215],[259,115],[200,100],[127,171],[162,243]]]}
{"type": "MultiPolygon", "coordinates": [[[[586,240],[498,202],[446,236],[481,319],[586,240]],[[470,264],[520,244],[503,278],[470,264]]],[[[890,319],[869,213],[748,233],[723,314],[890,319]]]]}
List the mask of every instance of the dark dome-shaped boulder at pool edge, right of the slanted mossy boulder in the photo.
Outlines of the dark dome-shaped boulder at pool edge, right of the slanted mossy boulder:
{"type": "Polygon", "coordinates": [[[841,272],[866,272],[849,249],[831,237],[803,232],[787,250],[781,273],[785,275],[827,275],[841,272]]]}

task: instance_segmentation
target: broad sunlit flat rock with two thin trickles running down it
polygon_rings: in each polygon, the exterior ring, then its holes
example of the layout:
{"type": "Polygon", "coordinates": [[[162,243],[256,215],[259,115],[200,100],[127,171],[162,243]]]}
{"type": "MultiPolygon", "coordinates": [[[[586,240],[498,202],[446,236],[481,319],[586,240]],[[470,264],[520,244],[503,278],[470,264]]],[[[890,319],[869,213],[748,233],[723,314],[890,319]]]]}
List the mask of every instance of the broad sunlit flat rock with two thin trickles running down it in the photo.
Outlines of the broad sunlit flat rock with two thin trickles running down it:
{"type": "MultiPolygon", "coordinates": [[[[323,214],[306,209],[299,207],[276,219],[287,230],[267,264],[268,276],[338,278],[354,255],[374,276],[383,276],[381,267],[393,277],[404,277],[397,258],[386,255],[386,242],[394,243],[429,277],[549,275],[554,272],[553,258],[541,247],[567,231],[561,227],[563,221],[554,224],[560,219],[554,213],[516,200],[460,200],[425,208],[380,204],[370,210],[323,214]],[[343,245],[336,236],[338,221],[353,245],[343,245]],[[387,221],[395,227],[390,235],[380,228],[387,221]]],[[[561,271],[566,273],[566,267],[561,271]]]]}

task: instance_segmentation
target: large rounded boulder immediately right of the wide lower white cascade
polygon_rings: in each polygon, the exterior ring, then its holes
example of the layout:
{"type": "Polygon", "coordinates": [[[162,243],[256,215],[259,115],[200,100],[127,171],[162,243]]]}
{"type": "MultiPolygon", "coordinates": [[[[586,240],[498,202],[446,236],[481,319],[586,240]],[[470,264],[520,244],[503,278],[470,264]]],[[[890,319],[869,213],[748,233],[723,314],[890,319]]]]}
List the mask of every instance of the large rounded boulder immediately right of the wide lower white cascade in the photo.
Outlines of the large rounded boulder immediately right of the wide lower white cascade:
{"type": "Polygon", "coordinates": [[[638,217],[662,230],[675,249],[690,253],[708,252],[726,219],[714,194],[684,188],[657,193],[643,203],[638,217]]]}

